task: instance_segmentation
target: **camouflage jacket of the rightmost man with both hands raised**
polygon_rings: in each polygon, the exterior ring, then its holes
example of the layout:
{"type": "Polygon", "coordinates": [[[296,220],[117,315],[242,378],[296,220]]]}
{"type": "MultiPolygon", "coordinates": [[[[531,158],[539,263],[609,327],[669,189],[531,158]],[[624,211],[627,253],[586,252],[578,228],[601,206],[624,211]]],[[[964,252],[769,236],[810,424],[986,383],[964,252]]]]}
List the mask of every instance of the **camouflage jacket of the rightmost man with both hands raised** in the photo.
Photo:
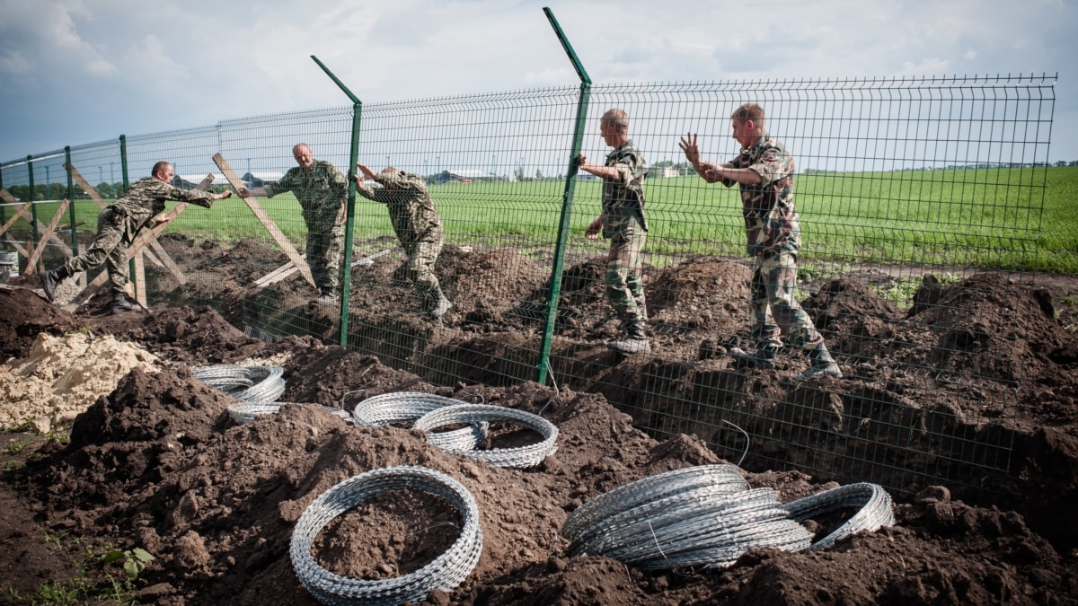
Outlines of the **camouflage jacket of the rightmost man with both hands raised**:
{"type": "MultiPolygon", "coordinates": [[[[801,248],[801,226],[793,209],[793,156],[770,135],[764,135],[741,155],[723,164],[727,168],[748,168],[760,176],[759,184],[741,184],[742,214],[750,257],[765,250],[797,252],[801,248]]],[[[731,187],[736,181],[722,179],[731,187]]]]}

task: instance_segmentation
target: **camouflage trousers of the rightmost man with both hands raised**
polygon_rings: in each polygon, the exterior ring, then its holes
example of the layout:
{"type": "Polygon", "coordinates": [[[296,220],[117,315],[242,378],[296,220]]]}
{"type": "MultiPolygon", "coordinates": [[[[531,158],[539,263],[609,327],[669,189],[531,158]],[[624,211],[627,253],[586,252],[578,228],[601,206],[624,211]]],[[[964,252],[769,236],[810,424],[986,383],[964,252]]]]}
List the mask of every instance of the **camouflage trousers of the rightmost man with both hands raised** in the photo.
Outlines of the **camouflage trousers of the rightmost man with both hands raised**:
{"type": "Polygon", "coordinates": [[[824,342],[812,318],[793,293],[798,289],[798,257],[790,251],[765,250],[752,258],[750,304],[756,326],[752,336],[764,347],[790,345],[813,349],[824,342]]]}

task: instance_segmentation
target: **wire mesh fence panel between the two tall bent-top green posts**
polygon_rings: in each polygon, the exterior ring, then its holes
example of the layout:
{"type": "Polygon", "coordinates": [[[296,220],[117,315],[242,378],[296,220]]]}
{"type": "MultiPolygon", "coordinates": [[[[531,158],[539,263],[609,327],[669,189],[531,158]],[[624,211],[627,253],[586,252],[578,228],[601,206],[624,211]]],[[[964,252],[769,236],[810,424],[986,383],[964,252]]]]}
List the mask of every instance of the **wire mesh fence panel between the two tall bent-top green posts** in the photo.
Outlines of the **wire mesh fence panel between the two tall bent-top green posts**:
{"type": "Polygon", "coordinates": [[[535,378],[578,101],[547,88],[363,107],[360,162],[423,176],[444,248],[425,280],[437,228],[357,198],[356,259],[389,252],[354,270],[350,347],[439,383],[535,378]],[[454,305],[442,321],[436,286],[454,305]]]}

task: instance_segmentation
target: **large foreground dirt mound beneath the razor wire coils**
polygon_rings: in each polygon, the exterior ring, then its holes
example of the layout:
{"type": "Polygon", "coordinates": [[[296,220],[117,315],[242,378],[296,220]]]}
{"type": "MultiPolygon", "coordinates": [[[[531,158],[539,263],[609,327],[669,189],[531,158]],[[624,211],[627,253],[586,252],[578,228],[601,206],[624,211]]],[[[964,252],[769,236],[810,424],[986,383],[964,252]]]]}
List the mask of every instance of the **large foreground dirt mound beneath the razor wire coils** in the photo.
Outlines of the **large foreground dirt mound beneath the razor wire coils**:
{"type": "MultiPolygon", "coordinates": [[[[945,492],[897,507],[895,528],[819,553],[750,552],[728,570],[641,573],[604,557],[566,557],[558,531],[582,502],[719,459],[693,437],[648,438],[602,396],[536,384],[438,389],[337,347],[295,352],[289,368],[290,389],[314,399],[334,400],[345,386],[360,396],[406,387],[539,413],[558,426],[558,451],[536,469],[494,468],[406,428],[364,429],[303,405],[235,426],[222,414],[231,398],[182,369],[156,377],[136,371],[79,417],[66,447],[39,451],[19,484],[41,504],[46,527],[155,554],[146,583],[160,604],[259,604],[266,595],[314,604],[288,557],[293,524],[333,484],[397,465],[446,473],[479,504],[480,562],[460,588],[436,592],[430,603],[1066,603],[1074,595],[1074,560],[1020,515],[950,501],[945,492]],[[331,389],[299,381],[315,376],[332,377],[331,389]]],[[[496,432],[496,440],[520,439],[496,432]]],[[[784,500],[827,487],[796,472],[748,480],[779,490],[784,500]]],[[[455,538],[444,510],[416,493],[385,493],[331,524],[313,554],[342,573],[404,574],[455,538]]],[[[827,524],[817,532],[829,532],[827,524]]]]}

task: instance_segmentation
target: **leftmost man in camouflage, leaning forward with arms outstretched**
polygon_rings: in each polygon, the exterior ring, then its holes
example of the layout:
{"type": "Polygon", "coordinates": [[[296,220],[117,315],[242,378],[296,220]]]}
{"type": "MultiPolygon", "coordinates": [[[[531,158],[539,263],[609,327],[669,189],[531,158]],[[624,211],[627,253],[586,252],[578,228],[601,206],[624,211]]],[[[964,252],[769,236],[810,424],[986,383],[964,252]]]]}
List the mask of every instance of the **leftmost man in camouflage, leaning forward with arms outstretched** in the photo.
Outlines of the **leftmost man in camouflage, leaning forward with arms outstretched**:
{"type": "Polygon", "coordinates": [[[97,216],[97,235],[86,252],[41,274],[45,297],[53,301],[56,298],[56,287],[66,278],[105,263],[112,286],[110,311],[120,314],[138,309],[124,295],[124,288],[127,286],[127,247],[138,232],[151,222],[151,218],[154,218],[154,225],[160,224],[162,220],[156,216],[165,210],[165,201],[189,202],[209,208],[215,199],[232,195],[232,192],[215,194],[181,190],[171,184],[175,173],[172,165],[167,162],[154,164],[152,177],[135,181],[132,189],[101,210],[97,216]]]}

